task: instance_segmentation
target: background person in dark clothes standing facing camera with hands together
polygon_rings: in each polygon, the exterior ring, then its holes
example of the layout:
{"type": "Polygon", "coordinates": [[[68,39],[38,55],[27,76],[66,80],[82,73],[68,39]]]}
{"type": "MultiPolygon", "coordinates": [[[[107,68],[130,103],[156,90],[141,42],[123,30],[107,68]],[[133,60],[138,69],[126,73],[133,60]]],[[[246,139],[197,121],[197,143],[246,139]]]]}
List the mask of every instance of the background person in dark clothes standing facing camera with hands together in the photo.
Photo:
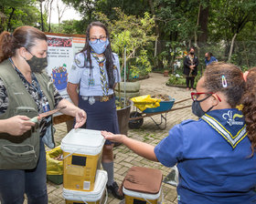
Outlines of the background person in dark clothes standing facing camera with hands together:
{"type": "Polygon", "coordinates": [[[189,54],[185,56],[183,61],[184,69],[183,74],[186,76],[187,90],[193,91],[195,77],[197,76],[197,66],[199,61],[197,56],[195,56],[195,49],[193,47],[189,48],[189,54]]]}

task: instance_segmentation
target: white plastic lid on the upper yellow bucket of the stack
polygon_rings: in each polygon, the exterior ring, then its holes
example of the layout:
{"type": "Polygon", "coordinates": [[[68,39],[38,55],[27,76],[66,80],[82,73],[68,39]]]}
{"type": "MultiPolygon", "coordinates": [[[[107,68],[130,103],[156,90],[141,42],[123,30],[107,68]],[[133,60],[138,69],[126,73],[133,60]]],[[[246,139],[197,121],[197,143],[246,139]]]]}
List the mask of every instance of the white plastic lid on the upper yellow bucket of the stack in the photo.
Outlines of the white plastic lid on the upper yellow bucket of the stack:
{"type": "Polygon", "coordinates": [[[98,155],[105,143],[105,138],[101,136],[101,131],[92,129],[71,129],[61,140],[61,149],[65,152],[98,155]]]}

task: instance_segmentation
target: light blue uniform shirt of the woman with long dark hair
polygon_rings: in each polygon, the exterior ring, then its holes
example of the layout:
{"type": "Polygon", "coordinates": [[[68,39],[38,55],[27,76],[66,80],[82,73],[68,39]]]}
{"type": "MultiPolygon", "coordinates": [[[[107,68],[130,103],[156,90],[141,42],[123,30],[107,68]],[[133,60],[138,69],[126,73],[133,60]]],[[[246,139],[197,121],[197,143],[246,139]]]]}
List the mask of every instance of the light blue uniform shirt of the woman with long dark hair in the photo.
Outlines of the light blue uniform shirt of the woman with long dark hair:
{"type": "MultiPolygon", "coordinates": [[[[120,65],[119,58],[115,53],[113,53],[113,64],[116,67],[113,70],[113,76],[115,78],[115,82],[118,83],[121,81],[120,65]]],[[[84,67],[84,55],[83,53],[79,53],[75,56],[75,60],[69,72],[69,82],[72,84],[80,84],[80,96],[102,96],[100,67],[99,63],[93,56],[91,56],[91,65],[91,71],[89,68],[89,62],[86,65],[86,67],[84,67]]],[[[108,75],[105,64],[104,71],[108,81],[108,75]]],[[[113,89],[109,88],[108,95],[112,94],[113,89]]]]}

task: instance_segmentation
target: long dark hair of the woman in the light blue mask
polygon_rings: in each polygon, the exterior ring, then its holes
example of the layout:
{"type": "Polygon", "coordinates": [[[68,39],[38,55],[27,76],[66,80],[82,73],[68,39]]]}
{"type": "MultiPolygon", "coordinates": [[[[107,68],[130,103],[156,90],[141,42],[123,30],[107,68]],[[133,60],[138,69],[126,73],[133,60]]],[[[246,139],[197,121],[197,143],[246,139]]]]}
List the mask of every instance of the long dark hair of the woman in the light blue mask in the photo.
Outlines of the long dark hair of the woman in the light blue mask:
{"type": "MultiPolygon", "coordinates": [[[[87,62],[90,62],[90,68],[92,68],[91,66],[91,46],[89,45],[89,41],[90,41],[90,30],[92,26],[100,26],[101,28],[103,28],[106,32],[107,38],[109,39],[110,42],[110,34],[109,31],[107,29],[107,27],[105,25],[103,25],[101,22],[92,22],[89,26],[87,26],[86,29],[86,42],[85,45],[83,47],[83,49],[80,51],[80,53],[83,53],[84,55],[84,66],[87,64],[87,62]]],[[[108,73],[108,78],[109,78],[109,87],[113,87],[114,85],[114,76],[113,76],[113,56],[112,56],[112,46],[111,46],[111,42],[109,43],[109,45],[106,47],[106,50],[104,52],[104,55],[106,57],[106,69],[107,69],[107,73],[108,73]]]]}

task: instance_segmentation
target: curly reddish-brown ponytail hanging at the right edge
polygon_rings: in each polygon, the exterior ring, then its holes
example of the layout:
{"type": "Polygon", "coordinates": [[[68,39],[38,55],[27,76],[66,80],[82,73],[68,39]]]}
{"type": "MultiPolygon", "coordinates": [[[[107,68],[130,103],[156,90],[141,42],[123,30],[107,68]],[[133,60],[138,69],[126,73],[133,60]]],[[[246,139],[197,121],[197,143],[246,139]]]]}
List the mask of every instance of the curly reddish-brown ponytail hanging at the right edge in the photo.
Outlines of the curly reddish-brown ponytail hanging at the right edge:
{"type": "Polygon", "coordinates": [[[242,113],[245,118],[248,138],[251,141],[251,155],[256,148],[256,67],[249,70],[246,78],[245,93],[241,98],[242,113]]]}

